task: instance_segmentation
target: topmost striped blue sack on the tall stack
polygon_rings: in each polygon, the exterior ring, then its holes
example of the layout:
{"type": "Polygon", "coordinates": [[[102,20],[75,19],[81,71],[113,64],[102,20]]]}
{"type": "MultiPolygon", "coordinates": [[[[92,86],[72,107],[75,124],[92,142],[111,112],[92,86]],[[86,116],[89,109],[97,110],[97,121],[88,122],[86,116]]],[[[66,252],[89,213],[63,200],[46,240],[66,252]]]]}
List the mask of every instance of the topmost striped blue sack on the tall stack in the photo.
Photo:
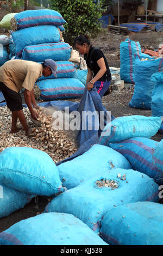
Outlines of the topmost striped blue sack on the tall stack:
{"type": "Polygon", "coordinates": [[[43,10],[26,10],[17,13],[14,16],[17,30],[41,25],[61,26],[66,23],[58,11],[43,10]]]}

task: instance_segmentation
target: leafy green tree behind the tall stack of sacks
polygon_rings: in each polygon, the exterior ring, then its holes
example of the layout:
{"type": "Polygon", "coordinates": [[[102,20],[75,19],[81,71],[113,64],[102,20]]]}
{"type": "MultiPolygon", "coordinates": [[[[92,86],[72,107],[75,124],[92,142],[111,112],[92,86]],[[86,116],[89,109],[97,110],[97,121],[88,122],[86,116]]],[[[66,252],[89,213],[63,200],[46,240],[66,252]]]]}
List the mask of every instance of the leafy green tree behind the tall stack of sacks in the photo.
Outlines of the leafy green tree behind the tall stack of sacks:
{"type": "Polygon", "coordinates": [[[64,39],[72,43],[79,34],[96,36],[101,31],[99,19],[102,17],[103,1],[99,4],[92,0],[49,0],[50,8],[58,11],[66,20],[64,39]]]}

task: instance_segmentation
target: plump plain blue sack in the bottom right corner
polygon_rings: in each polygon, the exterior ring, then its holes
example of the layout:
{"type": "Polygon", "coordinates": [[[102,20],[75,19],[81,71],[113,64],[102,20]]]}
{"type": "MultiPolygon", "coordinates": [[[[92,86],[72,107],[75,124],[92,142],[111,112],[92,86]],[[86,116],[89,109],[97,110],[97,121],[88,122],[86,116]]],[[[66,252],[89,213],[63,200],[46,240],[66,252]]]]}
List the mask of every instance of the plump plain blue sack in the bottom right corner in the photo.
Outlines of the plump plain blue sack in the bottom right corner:
{"type": "Polygon", "coordinates": [[[111,209],[102,221],[101,236],[110,245],[163,245],[162,204],[136,202],[111,209]]]}

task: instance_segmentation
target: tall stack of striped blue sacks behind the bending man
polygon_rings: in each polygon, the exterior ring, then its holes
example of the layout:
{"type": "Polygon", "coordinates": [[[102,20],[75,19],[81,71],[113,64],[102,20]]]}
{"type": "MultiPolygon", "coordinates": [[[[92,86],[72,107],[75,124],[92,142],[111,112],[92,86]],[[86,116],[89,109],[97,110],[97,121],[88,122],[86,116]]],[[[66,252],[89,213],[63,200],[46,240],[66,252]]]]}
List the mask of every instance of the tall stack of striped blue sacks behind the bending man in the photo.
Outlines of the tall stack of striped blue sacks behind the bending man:
{"type": "Polygon", "coordinates": [[[43,100],[81,97],[84,84],[75,76],[75,66],[68,60],[72,47],[62,40],[66,21],[54,10],[27,10],[14,16],[16,31],[11,32],[11,56],[16,59],[43,63],[45,59],[57,62],[57,78],[42,76],[36,81],[43,100]],[[14,49],[13,49],[14,46],[14,49]]]}

